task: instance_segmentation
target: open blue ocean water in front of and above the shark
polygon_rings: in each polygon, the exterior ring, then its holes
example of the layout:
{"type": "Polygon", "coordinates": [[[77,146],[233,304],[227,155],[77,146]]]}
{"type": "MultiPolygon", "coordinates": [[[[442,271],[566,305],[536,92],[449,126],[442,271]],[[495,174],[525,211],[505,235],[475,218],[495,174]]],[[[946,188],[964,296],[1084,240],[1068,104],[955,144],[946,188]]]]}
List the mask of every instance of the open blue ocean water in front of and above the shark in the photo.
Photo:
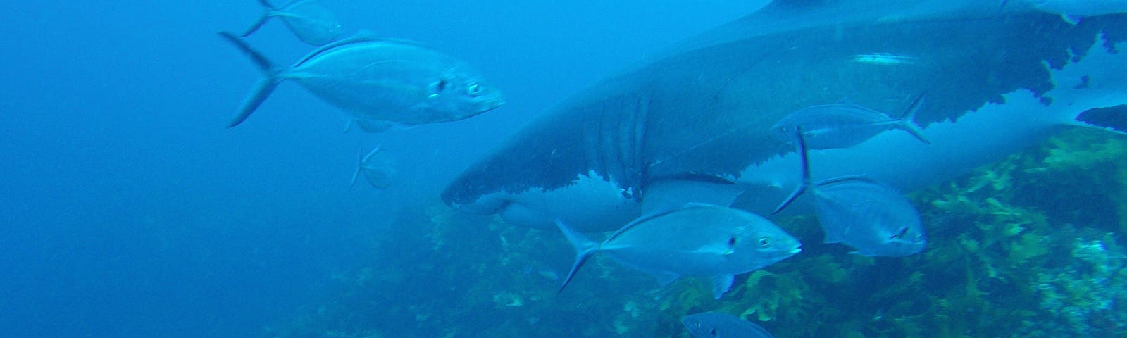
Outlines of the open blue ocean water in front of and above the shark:
{"type": "MultiPolygon", "coordinates": [[[[370,264],[399,207],[436,202],[548,105],[760,6],[325,2],[349,30],[461,57],[508,104],[459,123],[341,134],[339,112],[286,83],[228,130],[259,73],[215,33],[245,29],[255,1],[0,3],[0,337],[286,326],[330,297],[335,276],[370,264]],[[348,188],[356,149],[376,144],[401,159],[402,184],[348,188]]],[[[279,63],[311,50],[279,23],[249,41],[279,63]]]]}

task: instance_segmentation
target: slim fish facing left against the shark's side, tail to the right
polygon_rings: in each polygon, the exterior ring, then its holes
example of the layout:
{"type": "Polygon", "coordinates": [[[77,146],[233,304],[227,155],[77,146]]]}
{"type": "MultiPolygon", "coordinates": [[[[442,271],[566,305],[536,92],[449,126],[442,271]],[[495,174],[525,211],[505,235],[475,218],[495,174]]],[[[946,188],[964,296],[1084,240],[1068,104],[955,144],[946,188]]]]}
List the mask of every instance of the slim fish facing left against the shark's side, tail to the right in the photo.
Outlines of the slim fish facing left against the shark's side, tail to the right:
{"type": "Polygon", "coordinates": [[[931,144],[915,124],[924,95],[926,92],[917,96],[900,118],[854,104],[806,107],[779,119],[771,126],[771,134],[779,141],[793,143],[795,131],[801,127],[809,149],[835,149],[858,145],[888,130],[903,130],[920,142],[931,144]]]}

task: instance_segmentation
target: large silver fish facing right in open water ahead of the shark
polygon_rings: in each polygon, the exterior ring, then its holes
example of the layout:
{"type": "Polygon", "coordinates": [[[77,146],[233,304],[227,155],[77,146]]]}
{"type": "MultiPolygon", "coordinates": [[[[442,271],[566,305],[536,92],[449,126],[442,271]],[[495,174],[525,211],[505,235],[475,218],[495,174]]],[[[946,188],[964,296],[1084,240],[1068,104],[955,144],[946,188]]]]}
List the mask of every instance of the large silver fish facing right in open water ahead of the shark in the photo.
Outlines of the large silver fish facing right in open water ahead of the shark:
{"type": "Polygon", "coordinates": [[[246,121],[285,80],[373,124],[460,121],[505,104],[505,96],[469,65],[410,41],[362,32],[279,68],[233,34],[220,35],[249,55],[266,75],[229,127],[246,121]]]}

